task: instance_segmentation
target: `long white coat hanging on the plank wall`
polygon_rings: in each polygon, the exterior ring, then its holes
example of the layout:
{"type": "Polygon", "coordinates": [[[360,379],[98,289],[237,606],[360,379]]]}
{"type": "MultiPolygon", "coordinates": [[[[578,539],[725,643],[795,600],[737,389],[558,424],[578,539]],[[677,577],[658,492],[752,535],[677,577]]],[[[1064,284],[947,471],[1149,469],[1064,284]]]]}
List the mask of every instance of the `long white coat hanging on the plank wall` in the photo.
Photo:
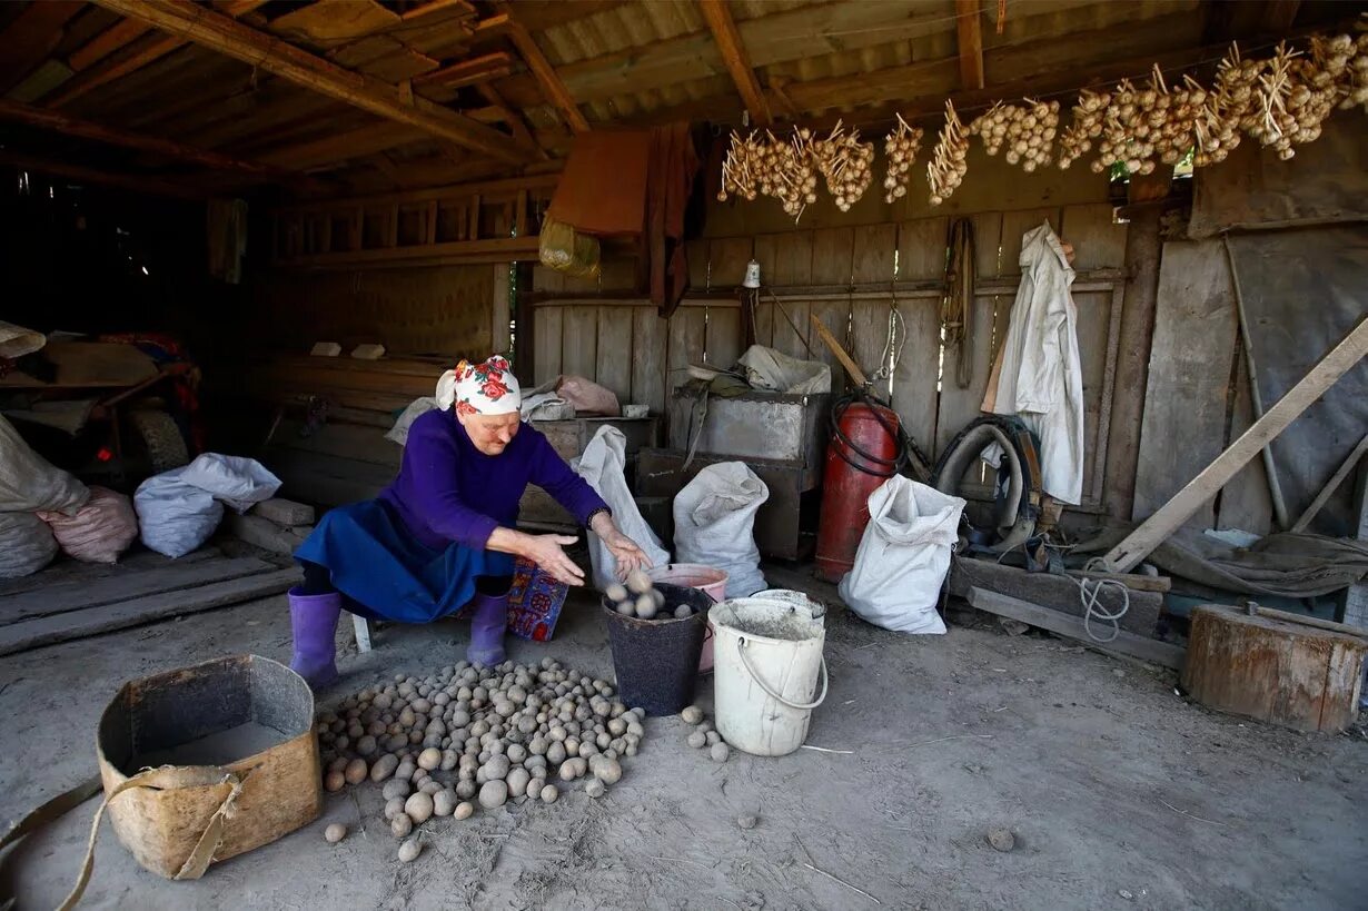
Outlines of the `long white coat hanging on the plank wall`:
{"type": "Polygon", "coordinates": [[[1042,487],[1063,503],[1083,494],[1083,373],[1078,309],[1059,238],[1045,222],[1022,237],[1022,282],[1001,350],[996,399],[984,410],[1016,414],[1040,438],[1042,487]]]}

